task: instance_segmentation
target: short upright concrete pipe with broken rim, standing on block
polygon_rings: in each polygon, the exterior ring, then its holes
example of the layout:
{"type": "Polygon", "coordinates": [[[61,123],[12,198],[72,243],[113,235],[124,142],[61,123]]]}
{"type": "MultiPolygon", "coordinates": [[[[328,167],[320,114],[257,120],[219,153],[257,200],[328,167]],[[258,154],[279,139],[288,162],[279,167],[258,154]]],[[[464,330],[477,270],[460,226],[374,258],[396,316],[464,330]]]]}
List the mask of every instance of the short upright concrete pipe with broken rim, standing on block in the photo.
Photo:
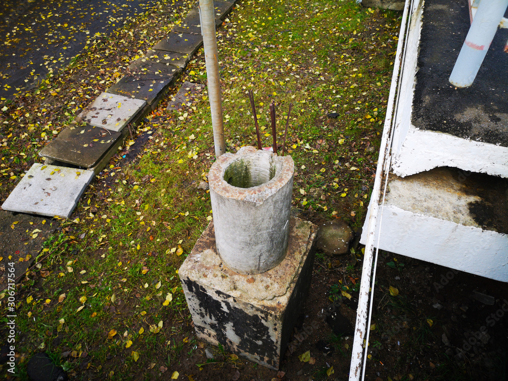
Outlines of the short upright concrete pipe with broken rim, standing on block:
{"type": "Polygon", "coordinates": [[[208,182],[217,251],[224,264],[241,274],[277,266],[288,247],[295,165],[254,147],[221,155],[208,182]]]}

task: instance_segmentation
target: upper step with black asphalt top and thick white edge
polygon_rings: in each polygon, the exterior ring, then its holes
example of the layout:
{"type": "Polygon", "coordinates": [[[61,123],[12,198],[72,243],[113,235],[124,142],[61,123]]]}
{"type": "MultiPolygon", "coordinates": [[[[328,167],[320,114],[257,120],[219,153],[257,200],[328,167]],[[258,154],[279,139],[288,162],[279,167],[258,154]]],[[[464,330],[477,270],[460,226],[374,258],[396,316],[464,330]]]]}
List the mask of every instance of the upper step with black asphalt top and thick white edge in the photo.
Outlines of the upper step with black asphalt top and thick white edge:
{"type": "MultiPolygon", "coordinates": [[[[393,132],[392,171],[398,176],[447,166],[508,177],[504,43],[493,42],[470,88],[455,89],[448,82],[469,27],[467,7],[462,8],[447,0],[415,1],[393,132]]],[[[505,42],[503,33],[506,29],[497,35],[505,42]]]]}

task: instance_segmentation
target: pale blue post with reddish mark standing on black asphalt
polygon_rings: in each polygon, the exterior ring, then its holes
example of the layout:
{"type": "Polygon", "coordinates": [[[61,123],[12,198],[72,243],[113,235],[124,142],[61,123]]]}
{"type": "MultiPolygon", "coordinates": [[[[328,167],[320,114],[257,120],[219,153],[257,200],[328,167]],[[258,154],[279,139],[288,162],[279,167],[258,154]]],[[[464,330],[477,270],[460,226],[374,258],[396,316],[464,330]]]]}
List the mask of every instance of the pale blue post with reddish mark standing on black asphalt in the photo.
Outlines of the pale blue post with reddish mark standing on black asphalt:
{"type": "Polygon", "coordinates": [[[450,75],[452,85],[472,85],[507,7],[508,0],[483,0],[480,3],[450,75]]]}

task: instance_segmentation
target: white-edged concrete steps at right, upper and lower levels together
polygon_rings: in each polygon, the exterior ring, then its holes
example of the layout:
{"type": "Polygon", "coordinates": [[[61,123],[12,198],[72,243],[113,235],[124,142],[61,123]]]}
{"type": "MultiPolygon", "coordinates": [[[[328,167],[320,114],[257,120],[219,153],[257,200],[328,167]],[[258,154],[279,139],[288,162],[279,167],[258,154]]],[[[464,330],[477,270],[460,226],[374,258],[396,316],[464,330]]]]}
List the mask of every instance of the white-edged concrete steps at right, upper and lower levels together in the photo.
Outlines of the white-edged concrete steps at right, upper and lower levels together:
{"type": "Polygon", "coordinates": [[[470,25],[467,5],[416,1],[409,24],[377,246],[508,281],[508,30],[460,89],[448,79],[470,25]]]}

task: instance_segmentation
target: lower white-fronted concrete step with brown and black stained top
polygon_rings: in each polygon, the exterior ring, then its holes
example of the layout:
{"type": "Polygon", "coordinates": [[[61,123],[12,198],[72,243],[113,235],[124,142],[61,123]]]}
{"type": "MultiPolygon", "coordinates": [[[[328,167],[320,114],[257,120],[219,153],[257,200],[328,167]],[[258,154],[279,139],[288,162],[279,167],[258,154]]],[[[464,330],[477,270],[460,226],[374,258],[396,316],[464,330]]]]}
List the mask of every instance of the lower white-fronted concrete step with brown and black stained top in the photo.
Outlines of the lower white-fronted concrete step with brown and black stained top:
{"type": "MultiPolygon", "coordinates": [[[[482,216],[482,212],[488,214],[499,210],[502,215],[506,202],[502,197],[497,204],[492,203],[492,199],[486,201],[481,196],[484,189],[478,189],[481,183],[467,185],[467,176],[473,175],[461,176],[459,173],[455,176],[452,170],[436,169],[425,174],[391,179],[385,204],[378,216],[375,232],[375,242],[379,237],[378,247],[471,274],[508,281],[508,235],[499,232],[505,227],[493,228],[489,223],[499,218],[482,216]]],[[[490,187],[490,184],[485,184],[485,187],[490,187]]],[[[371,205],[369,214],[370,210],[371,205]]],[[[366,235],[364,230],[362,243],[366,235]]]]}

